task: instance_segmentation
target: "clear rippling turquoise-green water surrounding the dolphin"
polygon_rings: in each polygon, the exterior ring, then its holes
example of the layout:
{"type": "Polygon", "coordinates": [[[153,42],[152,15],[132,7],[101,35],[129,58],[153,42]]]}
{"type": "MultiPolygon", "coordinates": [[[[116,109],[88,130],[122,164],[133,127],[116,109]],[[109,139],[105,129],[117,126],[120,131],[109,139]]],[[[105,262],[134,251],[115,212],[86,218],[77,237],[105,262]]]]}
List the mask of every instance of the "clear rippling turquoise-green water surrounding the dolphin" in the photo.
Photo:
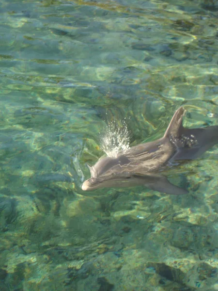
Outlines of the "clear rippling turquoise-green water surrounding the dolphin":
{"type": "Polygon", "coordinates": [[[218,290],[217,146],[171,173],[188,195],[81,190],[106,117],[132,145],[181,105],[187,127],[218,125],[218,2],[0,12],[0,291],[218,290]]]}

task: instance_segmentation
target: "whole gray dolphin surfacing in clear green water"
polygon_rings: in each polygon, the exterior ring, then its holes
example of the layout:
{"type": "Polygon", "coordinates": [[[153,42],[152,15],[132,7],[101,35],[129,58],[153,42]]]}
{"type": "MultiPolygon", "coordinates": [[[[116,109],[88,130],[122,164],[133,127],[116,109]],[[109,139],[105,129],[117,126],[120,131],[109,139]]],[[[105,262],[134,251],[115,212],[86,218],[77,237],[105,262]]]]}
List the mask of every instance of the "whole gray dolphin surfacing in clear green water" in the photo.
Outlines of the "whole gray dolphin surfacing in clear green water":
{"type": "Polygon", "coordinates": [[[166,194],[187,194],[187,190],[171,184],[159,172],[179,162],[197,159],[216,145],[218,126],[186,129],[182,124],[184,114],[185,109],[180,107],[162,138],[133,146],[116,158],[100,158],[89,167],[91,178],[84,181],[82,190],[144,185],[166,194]]]}

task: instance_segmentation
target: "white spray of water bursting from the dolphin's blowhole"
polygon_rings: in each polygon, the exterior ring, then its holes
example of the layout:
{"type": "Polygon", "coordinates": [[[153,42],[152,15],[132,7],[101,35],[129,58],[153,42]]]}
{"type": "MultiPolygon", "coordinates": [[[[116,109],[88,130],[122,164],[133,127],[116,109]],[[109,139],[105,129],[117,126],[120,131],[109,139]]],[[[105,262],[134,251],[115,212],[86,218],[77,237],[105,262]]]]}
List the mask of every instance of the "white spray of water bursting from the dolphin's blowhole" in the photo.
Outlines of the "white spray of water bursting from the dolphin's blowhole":
{"type": "Polygon", "coordinates": [[[108,157],[116,158],[121,152],[125,152],[129,148],[130,134],[124,119],[120,127],[118,123],[108,121],[107,126],[100,134],[100,147],[108,157]]]}

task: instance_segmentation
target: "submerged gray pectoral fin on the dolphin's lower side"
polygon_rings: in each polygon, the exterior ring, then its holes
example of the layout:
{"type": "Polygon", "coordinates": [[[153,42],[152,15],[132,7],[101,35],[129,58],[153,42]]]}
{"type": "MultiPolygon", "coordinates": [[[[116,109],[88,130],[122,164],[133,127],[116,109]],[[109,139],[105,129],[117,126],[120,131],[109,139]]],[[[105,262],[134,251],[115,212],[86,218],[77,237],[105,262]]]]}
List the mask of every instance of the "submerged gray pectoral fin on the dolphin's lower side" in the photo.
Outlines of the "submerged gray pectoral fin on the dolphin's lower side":
{"type": "Polygon", "coordinates": [[[188,194],[187,190],[171,184],[171,182],[169,182],[169,180],[165,176],[134,175],[134,178],[143,179],[144,186],[146,186],[149,189],[158,191],[158,192],[163,192],[163,193],[171,194],[171,195],[188,194]]]}

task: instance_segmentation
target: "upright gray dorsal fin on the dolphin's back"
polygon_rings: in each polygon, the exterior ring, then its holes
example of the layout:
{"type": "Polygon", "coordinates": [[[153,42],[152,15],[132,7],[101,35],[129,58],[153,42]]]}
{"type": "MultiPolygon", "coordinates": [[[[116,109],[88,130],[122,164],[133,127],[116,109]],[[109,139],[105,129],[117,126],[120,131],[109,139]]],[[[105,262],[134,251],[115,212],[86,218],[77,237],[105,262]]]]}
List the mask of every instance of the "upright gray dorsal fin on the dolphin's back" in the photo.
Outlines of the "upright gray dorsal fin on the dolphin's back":
{"type": "Polygon", "coordinates": [[[164,134],[164,137],[179,137],[183,132],[183,116],[186,113],[184,107],[180,107],[176,110],[172,116],[171,122],[164,134]]]}

